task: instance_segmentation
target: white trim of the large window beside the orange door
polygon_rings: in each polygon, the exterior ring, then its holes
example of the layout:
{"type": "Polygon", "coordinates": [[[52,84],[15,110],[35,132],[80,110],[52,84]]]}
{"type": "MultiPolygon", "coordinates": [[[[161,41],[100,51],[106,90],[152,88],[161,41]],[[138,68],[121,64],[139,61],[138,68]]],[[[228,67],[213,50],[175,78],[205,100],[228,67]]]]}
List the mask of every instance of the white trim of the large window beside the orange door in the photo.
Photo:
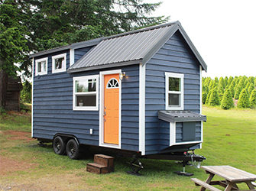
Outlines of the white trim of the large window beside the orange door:
{"type": "Polygon", "coordinates": [[[74,111],[99,111],[99,75],[73,77],[73,110],[74,111]],[[76,80],[96,79],[95,92],[76,92],[76,80]],[[95,95],[96,106],[76,106],[76,95],[95,95]]]}

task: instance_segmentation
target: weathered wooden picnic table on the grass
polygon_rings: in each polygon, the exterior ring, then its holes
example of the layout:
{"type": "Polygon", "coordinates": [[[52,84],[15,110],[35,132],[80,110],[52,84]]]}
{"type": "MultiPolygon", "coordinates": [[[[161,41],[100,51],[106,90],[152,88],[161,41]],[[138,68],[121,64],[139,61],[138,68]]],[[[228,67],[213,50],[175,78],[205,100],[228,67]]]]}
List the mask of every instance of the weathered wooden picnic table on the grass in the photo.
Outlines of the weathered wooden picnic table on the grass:
{"type": "Polygon", "coordinates": [[[212,191],[219,191],[220,189],[215,188],[212,185],[220,185],[225,188],[225,191],[229,190],[241,190],[238,188],[238,183],[246,183],[248,185],[248,190],[255,190],[254,185],[251,183],[256,180],[256,175],[252,173],[245,172],[244,170],[239,170],[235,167],[230,166],[202,166],[206,173],[209,173],[209,177],[206,182],[192,178],[191,180],[196,184],[196,186],[202,186],[201,191],[206,189],[212,191]],[[213,176],[220,176],[225,180],[212,181],[213,176]]]}

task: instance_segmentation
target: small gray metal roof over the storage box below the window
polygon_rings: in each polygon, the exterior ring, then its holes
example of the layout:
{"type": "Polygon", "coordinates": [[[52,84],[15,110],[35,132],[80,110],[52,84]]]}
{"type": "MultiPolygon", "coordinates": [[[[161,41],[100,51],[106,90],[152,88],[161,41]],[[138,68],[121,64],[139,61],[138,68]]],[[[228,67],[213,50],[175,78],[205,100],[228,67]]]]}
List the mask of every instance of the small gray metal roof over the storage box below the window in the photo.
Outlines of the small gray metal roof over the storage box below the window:
{"type": "Polygon", "coordinates": [[[167,122],[206,121],[206,115],[200,115],[190,111],[158,111],[158,118],[167,122]]]}

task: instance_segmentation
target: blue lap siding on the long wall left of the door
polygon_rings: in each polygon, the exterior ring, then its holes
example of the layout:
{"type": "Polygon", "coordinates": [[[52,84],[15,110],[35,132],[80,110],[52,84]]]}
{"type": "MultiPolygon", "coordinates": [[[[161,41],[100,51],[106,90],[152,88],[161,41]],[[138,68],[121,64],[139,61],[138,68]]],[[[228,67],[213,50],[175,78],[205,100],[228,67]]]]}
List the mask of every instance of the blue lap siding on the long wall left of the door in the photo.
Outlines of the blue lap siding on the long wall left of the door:
{"type": "MultiPolygon", "coordinates": [[[[70,52],[60,53],[66,53],[67,69],[70,66],[70,52]]],[[[94,75],[99,74],[99,71],[75,74],[51,73],[51,57],[60,53],[48,55],[47,75],[34,76],[34,137],[51,140],[57,133],[73,134],[81,144],[98,145],[99,112],[73,111],[73,76],[94,75]],[[90,128],[94,130],[93,135],[89,134],[90,128]]],[[[76,60],[82,56],[82,53],[77,54],[75,50],[76,60]]],[[[39,58],[35,58],[37,59],[39,58]]]]}

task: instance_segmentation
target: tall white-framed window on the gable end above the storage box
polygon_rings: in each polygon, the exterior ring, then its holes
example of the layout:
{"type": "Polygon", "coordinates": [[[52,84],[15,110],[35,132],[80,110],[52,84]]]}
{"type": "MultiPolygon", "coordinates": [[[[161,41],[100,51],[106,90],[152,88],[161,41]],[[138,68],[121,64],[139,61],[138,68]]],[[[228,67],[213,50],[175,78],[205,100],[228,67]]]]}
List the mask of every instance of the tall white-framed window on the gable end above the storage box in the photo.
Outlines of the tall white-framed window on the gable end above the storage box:
{"type": "Polygon", "coordinates": [[[169,110],[184,108],[184,75],[180,73],[165,73],[165,105],[169,110]]]}

